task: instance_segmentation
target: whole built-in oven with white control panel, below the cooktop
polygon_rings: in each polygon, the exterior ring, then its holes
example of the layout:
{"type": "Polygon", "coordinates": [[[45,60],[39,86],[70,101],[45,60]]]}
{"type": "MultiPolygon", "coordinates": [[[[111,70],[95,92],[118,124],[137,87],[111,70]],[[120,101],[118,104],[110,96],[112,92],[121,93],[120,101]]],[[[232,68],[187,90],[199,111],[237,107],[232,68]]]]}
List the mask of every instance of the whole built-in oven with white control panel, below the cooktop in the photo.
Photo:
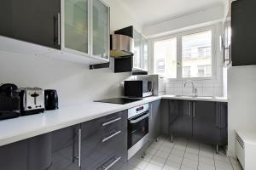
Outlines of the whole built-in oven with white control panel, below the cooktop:
{"type": "Polygon", "coordinates": [[[149,105],[128,110],[128,159],[148,142],[149,105]]]}

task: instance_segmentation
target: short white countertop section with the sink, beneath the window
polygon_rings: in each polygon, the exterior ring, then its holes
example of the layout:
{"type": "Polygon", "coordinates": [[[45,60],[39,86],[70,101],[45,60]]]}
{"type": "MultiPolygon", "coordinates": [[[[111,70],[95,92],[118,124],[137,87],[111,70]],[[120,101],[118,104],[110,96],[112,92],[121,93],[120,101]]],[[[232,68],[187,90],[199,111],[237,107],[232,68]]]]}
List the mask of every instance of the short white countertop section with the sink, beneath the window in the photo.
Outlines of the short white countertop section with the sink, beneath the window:
{"type": "Polygon", "coordinates": [[[213,102],[228,102],[226,97],[189,97],[185,95],[163,95],[161,99],[184,99],[184,100],[198,100],[198,101],[213,101],[213,102]]]}

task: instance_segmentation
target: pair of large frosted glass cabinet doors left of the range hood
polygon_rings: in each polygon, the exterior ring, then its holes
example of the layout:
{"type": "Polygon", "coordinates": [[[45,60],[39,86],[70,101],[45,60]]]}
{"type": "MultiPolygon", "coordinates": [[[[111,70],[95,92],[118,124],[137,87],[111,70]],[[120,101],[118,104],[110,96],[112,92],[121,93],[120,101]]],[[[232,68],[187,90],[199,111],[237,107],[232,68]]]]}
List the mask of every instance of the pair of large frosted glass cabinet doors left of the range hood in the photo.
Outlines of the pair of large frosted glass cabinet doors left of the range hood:
{"type": "Polygon", "coordinates": [[[109,7],[101,0],[64,0],[62,49],[109,60],[109,7]]]}

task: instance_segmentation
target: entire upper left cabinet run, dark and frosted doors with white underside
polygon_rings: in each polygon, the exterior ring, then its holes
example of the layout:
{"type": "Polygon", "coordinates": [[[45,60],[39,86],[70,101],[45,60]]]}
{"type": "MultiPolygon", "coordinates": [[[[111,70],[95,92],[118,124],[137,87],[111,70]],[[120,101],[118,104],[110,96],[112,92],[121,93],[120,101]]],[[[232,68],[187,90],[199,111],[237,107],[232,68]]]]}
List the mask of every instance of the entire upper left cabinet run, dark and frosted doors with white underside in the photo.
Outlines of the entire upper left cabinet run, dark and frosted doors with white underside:
{"type": "Polygon", "coordinates": [[[109,7],[101,0],[3,0],[0,21],[0,35],[24,41],[1,37],[0,49],[22,47],[26,54],[88,64],[109,61],[109,7]]]}

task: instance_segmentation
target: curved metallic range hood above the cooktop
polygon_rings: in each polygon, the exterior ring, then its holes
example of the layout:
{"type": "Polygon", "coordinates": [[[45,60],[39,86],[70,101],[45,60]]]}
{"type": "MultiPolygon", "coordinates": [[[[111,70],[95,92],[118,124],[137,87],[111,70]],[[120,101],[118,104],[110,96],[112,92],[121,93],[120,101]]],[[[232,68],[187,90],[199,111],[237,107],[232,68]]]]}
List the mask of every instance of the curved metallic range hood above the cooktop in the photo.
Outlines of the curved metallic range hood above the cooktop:
{"type": "Polygon", "coordinates": [[[110,56],[119,58],[124,56],[133,56],[133,39],[131,37],[113,34],[110,37],[110,56]]]}

